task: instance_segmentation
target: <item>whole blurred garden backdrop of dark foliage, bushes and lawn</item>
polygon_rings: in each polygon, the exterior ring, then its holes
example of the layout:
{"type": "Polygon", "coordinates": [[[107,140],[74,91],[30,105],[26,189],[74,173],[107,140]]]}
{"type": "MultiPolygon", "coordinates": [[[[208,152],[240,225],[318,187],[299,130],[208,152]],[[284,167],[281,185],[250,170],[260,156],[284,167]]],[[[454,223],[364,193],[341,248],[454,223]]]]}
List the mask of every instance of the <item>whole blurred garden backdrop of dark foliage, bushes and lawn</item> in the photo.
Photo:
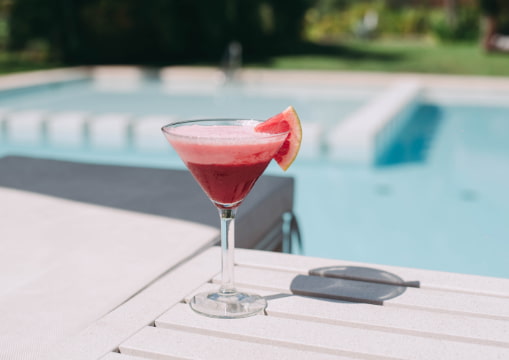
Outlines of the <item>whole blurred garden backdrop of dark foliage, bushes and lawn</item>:
{"type": "Polygon", "coordinates": [[[87,64],[509,75],[477,0],[0,0],[0,72],[87,64]]]}

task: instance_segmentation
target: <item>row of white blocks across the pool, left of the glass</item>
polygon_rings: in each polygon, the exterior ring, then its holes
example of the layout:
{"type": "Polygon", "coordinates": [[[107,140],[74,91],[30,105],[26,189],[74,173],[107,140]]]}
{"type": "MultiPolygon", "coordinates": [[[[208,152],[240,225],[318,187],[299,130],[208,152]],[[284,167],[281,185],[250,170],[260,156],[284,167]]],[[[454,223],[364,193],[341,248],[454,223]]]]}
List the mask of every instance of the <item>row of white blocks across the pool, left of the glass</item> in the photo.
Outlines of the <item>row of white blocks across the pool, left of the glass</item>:
{"type": "Polygon", "coordinates": [[[161,127],[177,120],[172,115],[0,108],[0,141],[13,146],[157,152],[169,148],[161,127]]]}

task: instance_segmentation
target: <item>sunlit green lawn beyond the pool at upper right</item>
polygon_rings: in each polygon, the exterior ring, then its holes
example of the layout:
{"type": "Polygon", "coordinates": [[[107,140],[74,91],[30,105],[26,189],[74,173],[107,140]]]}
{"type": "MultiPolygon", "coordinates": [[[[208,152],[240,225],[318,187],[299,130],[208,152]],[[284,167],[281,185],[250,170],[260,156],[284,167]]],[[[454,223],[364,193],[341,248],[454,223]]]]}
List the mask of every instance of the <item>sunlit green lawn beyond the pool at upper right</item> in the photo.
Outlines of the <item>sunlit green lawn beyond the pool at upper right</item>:
{"type": "Polygon", "coordinates": [[[509,54],[488,54],[476,43],[349,41],[340,45],[315,45],[314,48],[314,51],[283,54],[247,65],[276,69],[509,76],[509,54]]]}

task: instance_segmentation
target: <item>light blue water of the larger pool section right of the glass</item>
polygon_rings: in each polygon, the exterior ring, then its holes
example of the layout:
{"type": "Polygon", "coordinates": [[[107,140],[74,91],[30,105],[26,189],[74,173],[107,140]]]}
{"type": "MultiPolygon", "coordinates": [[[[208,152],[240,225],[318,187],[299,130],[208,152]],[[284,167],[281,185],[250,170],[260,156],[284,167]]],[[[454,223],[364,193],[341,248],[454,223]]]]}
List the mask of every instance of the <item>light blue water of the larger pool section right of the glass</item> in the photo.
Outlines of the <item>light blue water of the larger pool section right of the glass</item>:
{"type": "Polygon", "coordinates": [[[293,171],[308,255],[509,277],[508,107],[422,104],[375,166],[293,171]]]}

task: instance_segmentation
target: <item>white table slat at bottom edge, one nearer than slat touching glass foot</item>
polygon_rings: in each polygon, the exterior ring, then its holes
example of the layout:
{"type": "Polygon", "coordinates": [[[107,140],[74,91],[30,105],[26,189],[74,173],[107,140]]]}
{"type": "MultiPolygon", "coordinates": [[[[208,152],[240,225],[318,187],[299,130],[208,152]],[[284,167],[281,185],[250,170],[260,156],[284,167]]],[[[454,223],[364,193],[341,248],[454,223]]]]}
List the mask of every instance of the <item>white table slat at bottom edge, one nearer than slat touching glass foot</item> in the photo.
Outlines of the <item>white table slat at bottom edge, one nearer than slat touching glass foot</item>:
{"type": "MultiPolygon", "coordinates": [[[[189,310],[191,311],[191,310],[189,310]]],[[[193,316],[203,318],[193,313],[193,316]]],[[[234,320],[235,321],[235,320],[234,320]]],[[[228,321],[227,321],[228,322],[228,321]]],[[[216,337],[177,329],[146,327],[120,346],[120,352],[148,359],[288,359],[288,360],[351,360],[313,351],[304,351],[264,343],[216,337]]]]}

